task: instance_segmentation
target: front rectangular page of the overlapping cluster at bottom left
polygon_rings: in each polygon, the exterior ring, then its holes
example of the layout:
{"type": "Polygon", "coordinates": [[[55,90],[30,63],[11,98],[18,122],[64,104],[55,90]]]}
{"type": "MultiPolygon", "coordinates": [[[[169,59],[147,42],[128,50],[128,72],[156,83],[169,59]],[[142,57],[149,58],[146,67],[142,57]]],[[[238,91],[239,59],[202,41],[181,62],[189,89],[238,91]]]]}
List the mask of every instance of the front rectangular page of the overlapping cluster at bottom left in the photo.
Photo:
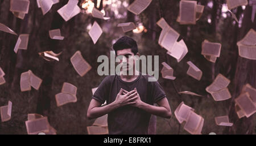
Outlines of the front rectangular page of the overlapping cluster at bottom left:
{"type": "Polygon", "coordinates": [[[26,121],[27,134],[39,134],[40,132],[49,132],[49,123],[47,117],[32,119],[26,121]]]}

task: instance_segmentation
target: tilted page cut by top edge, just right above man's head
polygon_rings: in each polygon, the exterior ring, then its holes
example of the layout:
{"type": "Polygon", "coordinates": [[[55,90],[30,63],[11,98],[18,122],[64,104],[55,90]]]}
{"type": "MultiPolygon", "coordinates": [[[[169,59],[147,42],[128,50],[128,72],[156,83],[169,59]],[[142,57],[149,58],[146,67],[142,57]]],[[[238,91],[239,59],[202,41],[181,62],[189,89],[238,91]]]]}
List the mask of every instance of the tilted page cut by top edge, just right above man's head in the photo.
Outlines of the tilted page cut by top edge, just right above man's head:
{"type": "Polygon", "coordinates": [[[135,0],[130,6],[127,7],[127,10],[135,15],[138,15],[150,5],[151,1],[152,0],[135,0]]]}

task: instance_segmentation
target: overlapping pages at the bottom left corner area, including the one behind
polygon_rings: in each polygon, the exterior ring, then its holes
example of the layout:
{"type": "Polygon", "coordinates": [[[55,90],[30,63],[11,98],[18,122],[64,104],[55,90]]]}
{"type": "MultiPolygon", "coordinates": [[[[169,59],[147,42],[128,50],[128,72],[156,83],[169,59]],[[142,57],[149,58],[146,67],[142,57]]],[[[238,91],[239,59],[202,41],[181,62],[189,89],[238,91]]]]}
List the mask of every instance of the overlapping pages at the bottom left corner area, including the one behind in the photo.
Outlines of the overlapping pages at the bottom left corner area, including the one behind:
{"type": "Polygon", "coordinates": [[[56,130],[49,124],[48,118],[40,114],[27,114],[26,128],[27,134],[39,134],[43,132],[47,135],[55,135],[56,130]]]}

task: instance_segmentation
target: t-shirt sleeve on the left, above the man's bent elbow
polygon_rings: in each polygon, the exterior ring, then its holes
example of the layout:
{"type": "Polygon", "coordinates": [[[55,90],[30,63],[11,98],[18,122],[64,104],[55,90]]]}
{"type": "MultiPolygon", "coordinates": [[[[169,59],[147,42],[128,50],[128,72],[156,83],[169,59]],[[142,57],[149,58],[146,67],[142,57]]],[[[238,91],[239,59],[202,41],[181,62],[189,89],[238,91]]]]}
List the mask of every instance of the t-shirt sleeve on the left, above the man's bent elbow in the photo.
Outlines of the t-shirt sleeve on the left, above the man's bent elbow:
{"type": "Polygon", "coordinates": [[[104,80],[101,81],[101,84],[98,86],[97,90],[94,92],[92,98],[97,100],[101,104],[104,104],[107,96],[109,96],[110,82],[109,77],[107,76],[104,80]]]}

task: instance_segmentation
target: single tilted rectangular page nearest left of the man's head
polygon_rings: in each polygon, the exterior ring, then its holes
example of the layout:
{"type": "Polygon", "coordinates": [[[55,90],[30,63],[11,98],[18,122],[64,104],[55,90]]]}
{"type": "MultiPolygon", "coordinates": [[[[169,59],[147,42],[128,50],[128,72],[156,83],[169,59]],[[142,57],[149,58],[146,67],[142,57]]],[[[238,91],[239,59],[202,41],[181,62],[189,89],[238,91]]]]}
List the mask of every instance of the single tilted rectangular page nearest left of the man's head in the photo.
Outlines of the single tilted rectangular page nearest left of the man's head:
{"type": "Polygon", "coordinates": [[[82,57],[81,51],[76,51],[70,60],[76,72],[80,76],[84,76],[92,68],[82,57]]]}

